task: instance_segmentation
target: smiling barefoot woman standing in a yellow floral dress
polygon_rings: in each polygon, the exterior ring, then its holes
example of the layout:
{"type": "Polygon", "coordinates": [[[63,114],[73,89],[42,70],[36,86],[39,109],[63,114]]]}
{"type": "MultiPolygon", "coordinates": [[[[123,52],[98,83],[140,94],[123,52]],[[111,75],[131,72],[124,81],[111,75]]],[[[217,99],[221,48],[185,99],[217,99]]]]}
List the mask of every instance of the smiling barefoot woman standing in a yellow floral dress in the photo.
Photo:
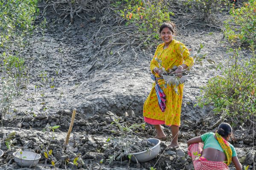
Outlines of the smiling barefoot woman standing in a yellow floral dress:
{"type": "MultiPolygon", "coordinates": [[[[177,66],[175,74],[181,77],[183,69],[191,67],[194,64],[193,58],[189,57],[189,50],[186,46],[173,39],[174,34],[173,23],[163,23],[160,26],[159,33],[163,40],[163,43],[157,46],[154,57],[150,63],[150,70],[154,76],[159,79],[162,77],[163,68],[166,72],[169,69],[177,66]],[[161,67],[159,67],[159,62],[161,67]]],[[[145,122],[154,125],[157,135],[154,138],[164,140],[166,134],[161,128],[161,124],[165,124],[171,127],[172,130],[172,142],[168,147],[179,147],[178,144],[178,132],[180,127],[180,112],[183,94],[183,84],[174,87],[174,85],[164,86],[163,79],[158,80],[158,84],[166,95],[166,108],[161,109],[158,105],[157,94],[155,91],[155,82],[151,89],[151,92],[146,99],[143,106],[143,116],[145,122]],[[177,91],[174,90],[177,89],[177,91]]]]}

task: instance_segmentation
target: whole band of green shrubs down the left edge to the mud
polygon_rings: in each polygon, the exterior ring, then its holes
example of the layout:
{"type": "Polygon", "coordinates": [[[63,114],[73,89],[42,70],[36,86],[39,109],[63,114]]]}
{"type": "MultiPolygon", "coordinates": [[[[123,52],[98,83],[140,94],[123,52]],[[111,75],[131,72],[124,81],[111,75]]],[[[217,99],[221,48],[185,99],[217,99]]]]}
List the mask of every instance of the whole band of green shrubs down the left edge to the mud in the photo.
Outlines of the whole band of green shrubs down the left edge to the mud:
{"type": "Polygon", "coordinates": [[[0,1],[0,111],[9,112],[12,99],[20,94],[26,79],[24,48],[36,28],[37,0],[0,1]]]}

